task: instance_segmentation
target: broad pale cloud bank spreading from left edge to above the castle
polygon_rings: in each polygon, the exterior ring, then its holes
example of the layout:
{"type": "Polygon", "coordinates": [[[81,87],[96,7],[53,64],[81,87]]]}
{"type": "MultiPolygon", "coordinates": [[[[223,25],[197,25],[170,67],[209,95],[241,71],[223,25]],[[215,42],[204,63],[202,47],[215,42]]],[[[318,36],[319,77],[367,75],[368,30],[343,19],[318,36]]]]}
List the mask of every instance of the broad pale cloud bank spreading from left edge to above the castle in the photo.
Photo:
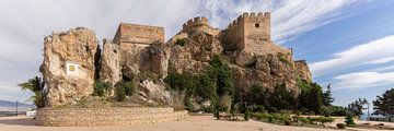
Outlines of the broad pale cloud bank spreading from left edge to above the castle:
{"type": "MultiPolygon", "coordinates": [[[[267,11],[266,0],[8,0],[0,4],[0,80],[15,85],[38,73],[43,38],[53,31],[85,26],[112,38],[119,22],[165,27],[166,38],[196,15],[225,27],[242,12],[267,11]]],[[[355,0],[282,0],[270,3],[277,41],[332,22],[355,0]],[[323,22],[324,21],[324,22],[323,22]]],[[[13,91],[0,92],[5,96],[13,91]]],[[[25,96],[27,97],[27,96],[25,96]]]]}

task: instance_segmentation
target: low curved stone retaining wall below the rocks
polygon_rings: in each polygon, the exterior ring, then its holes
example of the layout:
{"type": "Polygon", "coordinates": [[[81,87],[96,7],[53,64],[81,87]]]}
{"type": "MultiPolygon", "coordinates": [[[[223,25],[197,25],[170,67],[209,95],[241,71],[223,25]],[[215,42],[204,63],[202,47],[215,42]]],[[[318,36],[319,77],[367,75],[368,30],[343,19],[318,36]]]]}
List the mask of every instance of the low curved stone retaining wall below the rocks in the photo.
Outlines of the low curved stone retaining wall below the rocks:
{"type": "Polygon", "coordinates": [[[36,124],[53,127],[131,126],[177,121],[187,116],[187,111],[174,111],[173,108],[38,109],[36,124]]]}

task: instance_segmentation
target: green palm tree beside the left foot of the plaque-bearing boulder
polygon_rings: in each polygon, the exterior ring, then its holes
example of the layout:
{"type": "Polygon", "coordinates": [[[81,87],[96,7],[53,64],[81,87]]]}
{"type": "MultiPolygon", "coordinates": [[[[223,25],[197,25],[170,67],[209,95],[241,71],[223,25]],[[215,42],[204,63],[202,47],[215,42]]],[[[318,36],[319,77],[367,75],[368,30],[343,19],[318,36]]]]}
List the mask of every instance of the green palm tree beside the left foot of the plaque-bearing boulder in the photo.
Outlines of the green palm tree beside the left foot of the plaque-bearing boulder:
{"type": "Polygon", "coordinates": [[[22,91],[28,90],[34,93],[34,96],[31,97],[31,100],[33,100],[34,105],[36,105],[37,108],[43,108],[45,106],[44,79],[35,76],[33,79],[30,79],[25,83],[18,84],[18,86],[20,86],[22,91]]]}

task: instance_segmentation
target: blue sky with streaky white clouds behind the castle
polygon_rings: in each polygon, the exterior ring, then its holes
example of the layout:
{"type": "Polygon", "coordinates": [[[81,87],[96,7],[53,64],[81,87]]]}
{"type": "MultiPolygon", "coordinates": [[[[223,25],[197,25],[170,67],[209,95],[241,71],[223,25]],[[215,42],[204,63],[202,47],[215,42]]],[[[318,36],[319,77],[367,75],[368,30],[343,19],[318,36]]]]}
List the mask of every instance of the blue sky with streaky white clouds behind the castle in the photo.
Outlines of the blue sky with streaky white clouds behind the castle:
{"type": "Polygon", "coordinates": [[[83,26],[113,38],[120,22],[165,27],[194,16],[221,29],[243,12],[271,12],[271,34],[305,59],[334,104],[373,100],[394,87],[393,0],[0,0],[0,99],[27,102],[18,83],[39,75],[44,37],[83,26]]]}

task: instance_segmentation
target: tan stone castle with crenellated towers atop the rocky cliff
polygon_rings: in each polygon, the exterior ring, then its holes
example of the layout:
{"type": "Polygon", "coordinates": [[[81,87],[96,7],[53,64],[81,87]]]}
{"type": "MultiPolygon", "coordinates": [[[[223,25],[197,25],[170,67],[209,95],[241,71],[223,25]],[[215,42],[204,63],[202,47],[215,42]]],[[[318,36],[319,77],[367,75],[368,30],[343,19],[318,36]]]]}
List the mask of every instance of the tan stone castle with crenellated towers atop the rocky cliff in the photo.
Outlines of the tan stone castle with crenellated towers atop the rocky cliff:
{"type": "MultiPolygon", "coordinates": [[[[282,51],[283,53],[291,53],[289,49],[271,45],[274,43],[271,41],[269,12],[245,12],[223,31],[210,26],[207,17],[197,16],[184,23],[177,35],[195,32],[219,36],[225,51],[245,50],[256,53],[282,51]]],[[[172,39],[179,39],[177,35],[172,39]]],[[[114,43],[120,45],[129,43],[146,47],[143,45],[155,41],[164,43],[163,27],[120,23],[114,37],[114,43]]]]}

